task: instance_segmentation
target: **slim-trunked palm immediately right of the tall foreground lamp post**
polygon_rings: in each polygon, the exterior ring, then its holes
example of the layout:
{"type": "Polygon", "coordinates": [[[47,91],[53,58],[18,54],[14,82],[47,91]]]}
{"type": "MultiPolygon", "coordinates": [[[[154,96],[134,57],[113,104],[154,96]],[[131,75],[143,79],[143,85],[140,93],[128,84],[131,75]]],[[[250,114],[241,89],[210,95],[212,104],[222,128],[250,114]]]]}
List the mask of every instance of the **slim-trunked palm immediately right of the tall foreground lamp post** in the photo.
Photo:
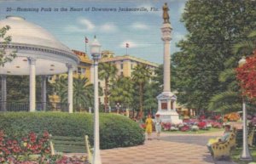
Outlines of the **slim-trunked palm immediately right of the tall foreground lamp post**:
{"type": "Polygon", "coordinates": [[[100,63],[99,65],[99,78],[101,80],[104,80],[105,82],[105,89],[104,89],[104,109],[105,112],[108,109],[108,86],[109,81],[113,79],[114,76],[116,76],[118,69],[116,68],[116,65],[112,63],[100,63]]]}

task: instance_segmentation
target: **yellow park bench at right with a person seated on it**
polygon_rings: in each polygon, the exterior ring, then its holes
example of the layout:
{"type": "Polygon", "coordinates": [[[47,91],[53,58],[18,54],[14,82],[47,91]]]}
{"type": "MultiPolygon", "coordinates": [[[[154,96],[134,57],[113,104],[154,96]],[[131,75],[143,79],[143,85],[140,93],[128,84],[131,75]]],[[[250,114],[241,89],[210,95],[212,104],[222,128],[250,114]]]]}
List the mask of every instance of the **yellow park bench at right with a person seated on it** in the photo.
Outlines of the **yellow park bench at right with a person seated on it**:
{"type": "Polygon", "coordinates": [[[236,128],[233,128],[229,139],[212,144],[212,157],[215,160],[230,157],[230,151],[236,148],[236,128]]]}

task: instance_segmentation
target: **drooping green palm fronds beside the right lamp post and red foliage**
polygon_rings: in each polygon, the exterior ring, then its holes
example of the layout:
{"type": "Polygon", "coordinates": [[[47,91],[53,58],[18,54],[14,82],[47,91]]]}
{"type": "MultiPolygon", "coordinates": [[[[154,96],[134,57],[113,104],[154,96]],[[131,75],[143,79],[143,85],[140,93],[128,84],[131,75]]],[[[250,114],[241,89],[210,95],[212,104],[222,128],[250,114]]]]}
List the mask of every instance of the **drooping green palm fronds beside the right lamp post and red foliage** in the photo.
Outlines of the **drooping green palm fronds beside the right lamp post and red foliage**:
{"type": "MultiPolygon", "coordinates": [[[[246,39],[234,45],[232,50],[235,55],[224,63],[226,69],[221,72],[218,78],[219,82],[228,83],[227,88],[224,92],[212,97],[208,110],[224,110],[226,112],[241,110],[241,93],[237,92],[241,89],[236,80],[235,69],[241,56],[251,55],[255,48],[256,31],[250,32],[246,39]]],[[[248,106],[248,108],[253,108],[253,106],[248,106]]]]}

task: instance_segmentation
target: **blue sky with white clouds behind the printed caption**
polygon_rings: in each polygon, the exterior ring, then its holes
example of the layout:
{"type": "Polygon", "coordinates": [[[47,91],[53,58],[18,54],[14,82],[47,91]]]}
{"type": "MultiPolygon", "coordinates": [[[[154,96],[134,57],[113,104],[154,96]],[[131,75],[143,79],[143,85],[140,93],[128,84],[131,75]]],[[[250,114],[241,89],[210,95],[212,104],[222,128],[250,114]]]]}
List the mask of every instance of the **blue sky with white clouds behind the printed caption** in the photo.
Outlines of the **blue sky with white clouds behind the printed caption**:
{"type": "MultiPolygon", "coordinates": [[[[163,43],[160,39],[162,6],[168,3],[172,23],[171,54],[178,48],[175,43],[182,39],[186,30],[180,22],[186,0],[58,0],[58,1],[1,1],[0,19],[7,15],[19,15],[51,32],[71,49],[84,51],[84,37],[92,41],[94,35],[102,44],[102,50],[112,50],[115,55],[124,55],[125,42],[130,44],[128,54],[161,64],[163,43]],[[7,11],[7,8],[39,8],[38,12],[7,11]],[[40,11],[41,8],[51,8],[40,11]],[[53,11],[58,8],[58,11],[53,11]],[[67,8],[62,11],[61,8],[67,8]],[[83,11],[70,11],[83,8],[83,11]],[[85,11],[85,8],[90,8],[85,11]],[[117,11],[92,11],[92,8],[116,8],[117,11]],[[119,8],[147,8],[148,11],[120,11],[119,8]],[[151,10],[157,8],[158,10],[151,10]]],[[[89,51],[89,48],[87,48],[89,51]]]]}

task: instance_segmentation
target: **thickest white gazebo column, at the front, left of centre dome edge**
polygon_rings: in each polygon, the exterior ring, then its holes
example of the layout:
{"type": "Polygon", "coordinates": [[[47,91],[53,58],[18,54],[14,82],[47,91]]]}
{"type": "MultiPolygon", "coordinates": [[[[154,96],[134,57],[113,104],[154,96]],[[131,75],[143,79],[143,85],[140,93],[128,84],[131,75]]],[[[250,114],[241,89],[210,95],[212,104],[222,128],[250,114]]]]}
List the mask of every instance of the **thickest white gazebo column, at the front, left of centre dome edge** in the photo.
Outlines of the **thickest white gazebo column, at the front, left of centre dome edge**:
{"type": "Polygon", "coordinates": [[[36,59],[29,60],[29,111],[36,111],[36,59]]]}

